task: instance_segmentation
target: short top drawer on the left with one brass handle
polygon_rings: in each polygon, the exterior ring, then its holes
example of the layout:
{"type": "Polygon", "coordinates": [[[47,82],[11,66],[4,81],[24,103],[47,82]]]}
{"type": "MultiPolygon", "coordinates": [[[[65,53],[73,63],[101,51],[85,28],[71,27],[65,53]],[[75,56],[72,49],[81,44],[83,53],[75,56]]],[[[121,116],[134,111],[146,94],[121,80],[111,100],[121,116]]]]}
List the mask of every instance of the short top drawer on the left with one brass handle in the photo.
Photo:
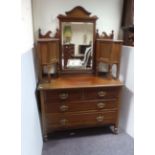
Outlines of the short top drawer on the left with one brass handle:
{"type": "Polygon", "coordinates": [[[45,101],[59,102],[59,101],[72,101],[82,98],[80,90],[48,90],[45,92],[45,101]]]}

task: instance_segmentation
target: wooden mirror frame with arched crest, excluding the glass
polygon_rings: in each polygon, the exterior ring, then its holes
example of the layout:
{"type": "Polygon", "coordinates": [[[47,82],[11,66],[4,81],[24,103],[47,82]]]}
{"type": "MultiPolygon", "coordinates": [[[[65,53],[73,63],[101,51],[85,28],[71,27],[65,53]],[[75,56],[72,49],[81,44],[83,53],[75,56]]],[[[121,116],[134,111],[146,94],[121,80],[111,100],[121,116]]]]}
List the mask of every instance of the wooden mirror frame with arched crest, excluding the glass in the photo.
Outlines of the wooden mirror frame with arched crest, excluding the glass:
{"type": "Polygon", "coordinates": [[[65,12],[66,15],[58,15],[60,28],[60,71],[62,73],[95,73],[95,40],[96,40],[96,20],[97,16],[90,16],[91,13],[81,6],[77,6],[70,11],[65,12]],[[93,24],[93,64],[90,70],[84,69],[62,69],[62,22],[89,22],[93,24]]]}

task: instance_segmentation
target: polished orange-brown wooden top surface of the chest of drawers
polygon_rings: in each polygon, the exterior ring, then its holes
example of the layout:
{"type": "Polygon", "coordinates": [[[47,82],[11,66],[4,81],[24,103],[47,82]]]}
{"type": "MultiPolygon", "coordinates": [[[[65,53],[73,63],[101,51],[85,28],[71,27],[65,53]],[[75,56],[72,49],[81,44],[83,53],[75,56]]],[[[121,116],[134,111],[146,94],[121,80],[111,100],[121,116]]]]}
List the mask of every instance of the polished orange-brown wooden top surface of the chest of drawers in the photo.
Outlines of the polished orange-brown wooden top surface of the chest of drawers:
{"type": "Polygon", "coordinates": [[[47,89],[77,89],[77,88],[95,88],[95,87],[114,87],[122,86],[120,80],[108,79],[93,75],[69,75],[60,76],[52,79],[50,83],[39,83],[39,90],[47,89]]]}

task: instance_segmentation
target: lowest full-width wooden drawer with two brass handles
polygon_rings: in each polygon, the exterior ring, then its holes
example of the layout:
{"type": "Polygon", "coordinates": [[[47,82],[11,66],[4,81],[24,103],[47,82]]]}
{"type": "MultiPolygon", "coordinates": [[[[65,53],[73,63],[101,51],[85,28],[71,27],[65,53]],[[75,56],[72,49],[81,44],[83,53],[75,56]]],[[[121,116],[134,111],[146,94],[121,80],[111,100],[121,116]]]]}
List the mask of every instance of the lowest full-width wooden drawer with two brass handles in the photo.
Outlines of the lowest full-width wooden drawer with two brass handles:
{"type": "Polygon", "coordinates": [[[87,127],[91,125],[112,124],[116,121],[117,111],[47,114],[47,125],[52,128],[87,127]]]}

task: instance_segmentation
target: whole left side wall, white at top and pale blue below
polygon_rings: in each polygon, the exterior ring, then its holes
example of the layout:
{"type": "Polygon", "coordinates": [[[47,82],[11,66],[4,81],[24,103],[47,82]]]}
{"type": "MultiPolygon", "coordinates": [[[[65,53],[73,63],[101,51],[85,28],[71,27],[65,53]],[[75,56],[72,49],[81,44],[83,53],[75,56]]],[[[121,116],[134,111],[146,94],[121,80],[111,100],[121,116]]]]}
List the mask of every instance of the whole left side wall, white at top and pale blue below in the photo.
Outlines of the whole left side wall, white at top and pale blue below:
{"type": "MultiPolygon", "coordinates": [[[[22,155],[41,155],[42,135],[35,97],[36,76],[33,59],[31,0],[22,0],[21,136],[22,155]]],[[[18,43],[18,42],[17,42],[18,43]]],[[[21,46],[18,45],[18,46],[21,46]]]]}

